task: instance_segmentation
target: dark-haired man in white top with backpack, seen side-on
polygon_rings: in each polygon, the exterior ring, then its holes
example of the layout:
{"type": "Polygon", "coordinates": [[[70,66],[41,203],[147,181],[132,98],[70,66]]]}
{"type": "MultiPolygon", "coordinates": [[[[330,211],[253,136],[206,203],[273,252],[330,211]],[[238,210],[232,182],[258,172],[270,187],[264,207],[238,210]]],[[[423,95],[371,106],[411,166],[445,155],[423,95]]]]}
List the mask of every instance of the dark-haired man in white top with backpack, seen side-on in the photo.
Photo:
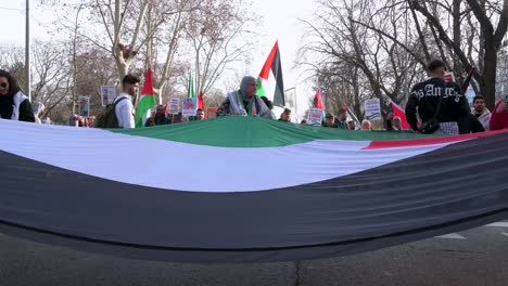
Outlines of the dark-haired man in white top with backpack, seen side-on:
{"type": "Polygon", "coordinates": [[[119,128],[135,128],[132,96],[138,93],[139,81],[139,78],[132,75],[127,75],[122,80],[122,92],[114,100],[114,103],[118,102],[115,114],[119,128]]]}

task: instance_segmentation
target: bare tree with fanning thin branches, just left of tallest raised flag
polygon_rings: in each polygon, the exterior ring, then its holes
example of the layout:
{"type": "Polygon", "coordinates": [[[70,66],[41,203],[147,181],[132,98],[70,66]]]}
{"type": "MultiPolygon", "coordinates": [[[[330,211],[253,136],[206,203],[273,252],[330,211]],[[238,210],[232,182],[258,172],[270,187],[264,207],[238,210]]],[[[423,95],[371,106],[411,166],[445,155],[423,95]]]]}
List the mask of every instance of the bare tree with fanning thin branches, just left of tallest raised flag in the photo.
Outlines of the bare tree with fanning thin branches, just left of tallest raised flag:
{"type": "Polygon", "coordinates": [[[196,92],[206,93],[232,63],[246,60],[256,40],[256,21],[243,0],[205,0],[191,13],[186,32],[196,92]]]}

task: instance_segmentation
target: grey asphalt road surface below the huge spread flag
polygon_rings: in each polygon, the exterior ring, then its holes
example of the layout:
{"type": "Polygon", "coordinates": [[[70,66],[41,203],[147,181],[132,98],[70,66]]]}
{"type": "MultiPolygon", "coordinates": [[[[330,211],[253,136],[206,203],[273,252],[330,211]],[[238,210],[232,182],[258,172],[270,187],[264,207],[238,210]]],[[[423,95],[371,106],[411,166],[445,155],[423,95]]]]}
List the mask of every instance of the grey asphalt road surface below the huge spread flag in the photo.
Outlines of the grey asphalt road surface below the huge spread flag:
{"type": "Polygon", "coordinates": [[[508,285],[508,221],[333,259],[257,264],[130,260],[0,234],[0,286],[508,285]]]}

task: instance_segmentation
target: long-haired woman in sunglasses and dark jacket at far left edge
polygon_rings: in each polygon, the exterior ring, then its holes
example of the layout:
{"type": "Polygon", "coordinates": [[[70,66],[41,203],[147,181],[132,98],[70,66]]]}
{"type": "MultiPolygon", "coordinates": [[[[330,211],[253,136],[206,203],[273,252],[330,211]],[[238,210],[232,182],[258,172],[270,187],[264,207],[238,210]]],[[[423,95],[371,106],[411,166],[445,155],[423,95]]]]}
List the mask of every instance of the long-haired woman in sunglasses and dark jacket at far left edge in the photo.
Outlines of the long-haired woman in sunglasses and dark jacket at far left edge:
{"type": "Polygon", "coordinates": [[[0,117],[2,119],[35,122],[28,98],[21,92],[17,80],[0,69],[0,117]]]}

